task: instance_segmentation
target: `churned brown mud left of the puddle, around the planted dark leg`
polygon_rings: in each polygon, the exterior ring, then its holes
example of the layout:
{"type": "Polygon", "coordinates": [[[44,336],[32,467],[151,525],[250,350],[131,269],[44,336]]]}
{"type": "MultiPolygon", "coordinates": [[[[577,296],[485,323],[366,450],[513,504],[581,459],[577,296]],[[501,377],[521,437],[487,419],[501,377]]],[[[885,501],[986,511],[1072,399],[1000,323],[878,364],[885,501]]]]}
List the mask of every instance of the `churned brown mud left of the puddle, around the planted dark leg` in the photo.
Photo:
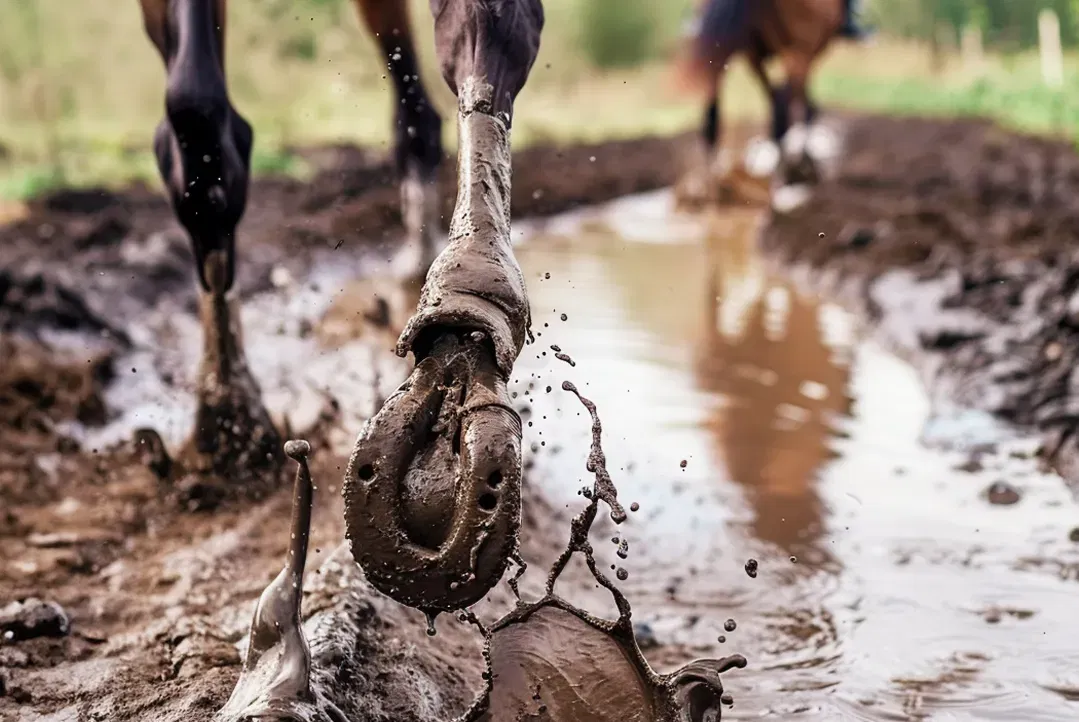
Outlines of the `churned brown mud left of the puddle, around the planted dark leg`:
{"type": "MultiPolygon", "coordinates": [[[[687,137],[517,153],[514,213],[551,213],[669,183],[678,171],[660,159],[688,145],[687,137]]],[[[302,298],[322,292],[319,284],[377,276],[397,244],[399,196],[387,163],[354,149],[304,152],[314,178],[257,180],[241,228],[227,305],[232,319],[244,311],[249,353],[272,341],[295,354],[295,344],[327,337],[319,312],[298,309],[275,321],[258,311],[259,299],[286,291],[302,298]],[[323,269],[322,281],[308,282],[313,268],[323,269]]],[[[448,166],[447,208],[455,182],[448,166]]],[[[288,515],[279,493],[226,503],[213,515],[192,516],[169,500],[201,393],[197,318],[213,305],[200,297],[188,243],[154,190],[72,190],[33,202],[0,229],[0,602],[39,598],[70,619],[66,637],[0,640],[0,718],[209,718],[242,668],[236,644],[250,605],[279,571],[288,515]],[[144,428],[156,433],[124,440],[144,428]]],[[[309,392],[311,380],[293,369],[281,380],[275,372],[268,385],[265,351],[250,369],[263,394],[278,399],[269,404],[274,426],[311,440],[313,476],[326,485],[315,490],[323,521],[313,530],[316,570],[304,613],[311,629],[340,635],[309,635],[312,665],[352,680],[342,704],[350,719],[445,722],[481,683],[480,640],[451,621],[428,644],[422,617],[381,598],[338,547],[342,435],[355,438],[385,396],[381,387],[400,372],[384,337],[369,339],[369,351],[357,346],[372,324],[359,326],[339,335],[353,354],[349,379],[338,373],[309,392]],[[342,382],[366,400],[339,403],[342,382]],[[282,383],[295,386],[284,398],[282,383]],[[296,400],[283,408],[284,399],[296,400]],[[347,659],[363,659],[364,668],[347,659]]],[[[316,345],[302,353],[315,354],[317,367],[326,352],[316,345]]],[[[547,548],[540,530],[551,520],[542,498],[525,495],[532,504],[522,523],[540,540],[525,544],[528,554],[547,548]]]]}

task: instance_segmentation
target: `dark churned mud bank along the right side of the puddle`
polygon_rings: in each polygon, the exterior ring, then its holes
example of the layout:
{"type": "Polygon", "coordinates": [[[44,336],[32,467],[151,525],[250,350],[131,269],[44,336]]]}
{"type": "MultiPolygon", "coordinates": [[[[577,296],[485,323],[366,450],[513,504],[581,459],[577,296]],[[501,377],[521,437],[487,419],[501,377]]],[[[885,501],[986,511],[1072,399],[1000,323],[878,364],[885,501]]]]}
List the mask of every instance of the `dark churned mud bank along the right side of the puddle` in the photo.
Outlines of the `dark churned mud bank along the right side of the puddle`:
{"type": "Polygon", "coordinates": [[[934,395],[1043,432],[1079,482],[1079,155],[982,121],[846,124],[836,175],[763,247],[861,306],[934,395]]]}

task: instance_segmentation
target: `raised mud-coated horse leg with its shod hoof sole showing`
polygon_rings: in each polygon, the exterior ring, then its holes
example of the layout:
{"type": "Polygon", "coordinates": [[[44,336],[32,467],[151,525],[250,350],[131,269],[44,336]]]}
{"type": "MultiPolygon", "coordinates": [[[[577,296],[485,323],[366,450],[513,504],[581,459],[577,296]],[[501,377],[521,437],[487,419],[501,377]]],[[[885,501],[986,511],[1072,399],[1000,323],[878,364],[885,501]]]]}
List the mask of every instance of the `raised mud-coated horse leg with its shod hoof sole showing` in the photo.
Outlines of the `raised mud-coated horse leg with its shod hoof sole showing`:
{"type": "Polygon", "coordinates": [[[415,369],[360,432],[346,535],[367,580],[428,615],[468,607],[517,548],[521,421],[506,384],[531,316],[509,237],[514,100],[540,49],[540,0],[432,0],[457,96],[449,244],[398,342],[415,369]]]}

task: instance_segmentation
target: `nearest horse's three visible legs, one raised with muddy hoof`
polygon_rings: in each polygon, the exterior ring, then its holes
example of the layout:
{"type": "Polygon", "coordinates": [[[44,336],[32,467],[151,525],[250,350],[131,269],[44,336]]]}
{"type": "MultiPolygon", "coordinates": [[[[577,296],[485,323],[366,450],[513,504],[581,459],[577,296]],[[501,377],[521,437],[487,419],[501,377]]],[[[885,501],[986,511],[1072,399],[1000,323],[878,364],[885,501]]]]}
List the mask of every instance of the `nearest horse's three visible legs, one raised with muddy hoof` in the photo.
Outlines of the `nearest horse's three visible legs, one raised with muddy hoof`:
{"type": "MultiPolygon", "coordinates": [[[[208,493],[228,495],[283,462],[228,297],[254,135],[226,82],[227,0],[140,3],[167,71],[154,153],[194,249],[205,344],[195,432],[180,464],[158,468],[197,477],[180,485],[196,496],[214,485],[208,493]]],[[[426,281],[397,345],[415,369],[365,426],[346,472],[347,533],[375,587],[437,613],[481,598],[517,543],[521,422],[506,383],[530,313],[509,241],[509,127],[544,13],[541,0],[431,0],[460,137],[449,245],[432,262],[441,120],[420,79],[407,0],[356,4],[393,74],[404,218],[426,281]]]]}

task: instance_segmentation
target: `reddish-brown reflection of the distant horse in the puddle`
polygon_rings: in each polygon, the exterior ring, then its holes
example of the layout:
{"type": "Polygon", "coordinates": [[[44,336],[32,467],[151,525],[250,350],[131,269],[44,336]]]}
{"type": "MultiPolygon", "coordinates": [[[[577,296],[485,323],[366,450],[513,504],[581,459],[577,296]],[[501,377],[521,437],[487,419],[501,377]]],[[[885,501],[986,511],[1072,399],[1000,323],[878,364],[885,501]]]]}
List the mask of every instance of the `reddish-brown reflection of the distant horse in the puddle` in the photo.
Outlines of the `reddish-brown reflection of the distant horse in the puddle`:
{"type": "Polygon", "coordinates": [[[849,354],[830,346],[819,306],[768,277],[753,254],[753,216],[713,218],[694,377],[727,405],[709,414],[716,454],[753,507],[752,534],[814,566],[837,562],[817,471],[831,457],[830,419],[848,414],[849,354]]]}

